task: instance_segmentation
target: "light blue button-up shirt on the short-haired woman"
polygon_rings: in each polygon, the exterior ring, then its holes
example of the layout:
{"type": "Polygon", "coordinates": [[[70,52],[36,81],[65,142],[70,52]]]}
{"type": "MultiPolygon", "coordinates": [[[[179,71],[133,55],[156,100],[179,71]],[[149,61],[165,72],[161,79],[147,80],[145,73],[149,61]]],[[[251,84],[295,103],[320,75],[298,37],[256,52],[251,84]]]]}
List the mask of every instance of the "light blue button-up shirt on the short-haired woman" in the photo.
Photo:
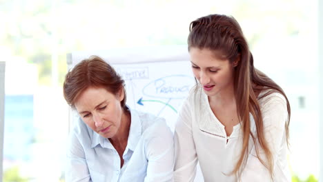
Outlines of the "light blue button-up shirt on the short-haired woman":
{"type": "Polygon", "coordinates": [[[173,181],[174,141],[164,119],[130,110],[124,165],[110,141],[79,119],[70,132],[66,182],[173,181]]]}

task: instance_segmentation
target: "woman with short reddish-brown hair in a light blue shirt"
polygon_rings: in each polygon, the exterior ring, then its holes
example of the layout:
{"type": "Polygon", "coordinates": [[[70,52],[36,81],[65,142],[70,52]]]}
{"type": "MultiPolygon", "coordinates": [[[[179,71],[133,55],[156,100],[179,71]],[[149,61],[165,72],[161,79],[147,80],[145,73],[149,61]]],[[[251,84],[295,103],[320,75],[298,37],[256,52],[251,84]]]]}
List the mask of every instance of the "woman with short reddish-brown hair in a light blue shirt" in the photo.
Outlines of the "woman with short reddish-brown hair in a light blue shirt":
{"type": "Polygon", "coordinates": [[[79,120],[70,132],[66,181],[173,181],[173,134],[164,119],[131,110],[124,80],[99,57],[63,83],[79,120]]]}

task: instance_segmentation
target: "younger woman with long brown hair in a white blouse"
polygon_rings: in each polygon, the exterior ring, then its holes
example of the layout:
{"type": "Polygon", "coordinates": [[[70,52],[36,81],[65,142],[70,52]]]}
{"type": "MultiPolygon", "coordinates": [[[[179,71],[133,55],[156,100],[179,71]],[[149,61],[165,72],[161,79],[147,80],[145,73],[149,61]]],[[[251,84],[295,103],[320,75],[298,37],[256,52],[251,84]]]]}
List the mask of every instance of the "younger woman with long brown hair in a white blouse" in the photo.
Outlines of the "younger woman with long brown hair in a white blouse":
{"type": "Polygon", "coordinates": [[[188,51],[197,85],[175,128],[175,181],[291,181],[290,106],[253,65],[239,23],[211,14],[190,23],[188,51]]]}

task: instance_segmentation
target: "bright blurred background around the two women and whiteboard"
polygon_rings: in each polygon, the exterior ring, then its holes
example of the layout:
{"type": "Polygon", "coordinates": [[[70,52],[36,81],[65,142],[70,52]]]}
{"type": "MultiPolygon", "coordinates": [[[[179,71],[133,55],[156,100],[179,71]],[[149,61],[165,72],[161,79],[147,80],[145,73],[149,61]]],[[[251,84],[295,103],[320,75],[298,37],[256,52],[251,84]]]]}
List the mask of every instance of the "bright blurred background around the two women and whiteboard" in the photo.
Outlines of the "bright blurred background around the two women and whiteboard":
{"type": "Polygon", "coordinates": [[[317,181],[318,3],[0,0],[0,61],[6,61],[3,181],[64,181],[69,128],[62,83],[68,53],[185,45],[190,21],[213,13],[237,19],[255,66],[285,90],[292,109],[293,181],[317,181]]]}

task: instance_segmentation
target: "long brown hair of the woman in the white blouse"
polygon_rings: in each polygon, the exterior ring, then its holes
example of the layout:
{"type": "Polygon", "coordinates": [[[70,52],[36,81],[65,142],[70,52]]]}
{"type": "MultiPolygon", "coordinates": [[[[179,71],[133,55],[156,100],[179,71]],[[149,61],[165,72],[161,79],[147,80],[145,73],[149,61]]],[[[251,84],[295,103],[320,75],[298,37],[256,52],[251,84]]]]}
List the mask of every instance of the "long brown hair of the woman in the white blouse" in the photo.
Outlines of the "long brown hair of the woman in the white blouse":
{"type": "Polygon", "coordinates": [[[254,67],[253,55],[248,48],[248,43],[244,38],[239,23],[233,17],[222,14],[211,14],[192,21],[190,23],[190,34],[188,35],[188,51],[190,48],[205,48],[219,51],[231,63],[239,59],[238,65],[235,67],[234,90],[237,115],[239,122],[242,124],[243,142],[242,153],[235,165],[233,173],[237,174],[237,176],[241,175],[246,160],[248,159],[248,141],[251,136],[255,143],[258,159],[260,159],[260,162],[269,170],[273,177],[273,156],[264,137],[264,123],[256,93],[268,90],[259,99],[273,92],[278,92],[285,97],[288,111],[285,130],[286,141],[288,143],[288,126],[291,117],[291,108],[286,94],[266,74],[254,67]],[[256,136],[251,132],[249,113],[253,115],[253,119],[255,120],[256,136]],[[261,159],[256,143],[259,143],[260,147],[264,150],[267,162],[261,159]]]}

